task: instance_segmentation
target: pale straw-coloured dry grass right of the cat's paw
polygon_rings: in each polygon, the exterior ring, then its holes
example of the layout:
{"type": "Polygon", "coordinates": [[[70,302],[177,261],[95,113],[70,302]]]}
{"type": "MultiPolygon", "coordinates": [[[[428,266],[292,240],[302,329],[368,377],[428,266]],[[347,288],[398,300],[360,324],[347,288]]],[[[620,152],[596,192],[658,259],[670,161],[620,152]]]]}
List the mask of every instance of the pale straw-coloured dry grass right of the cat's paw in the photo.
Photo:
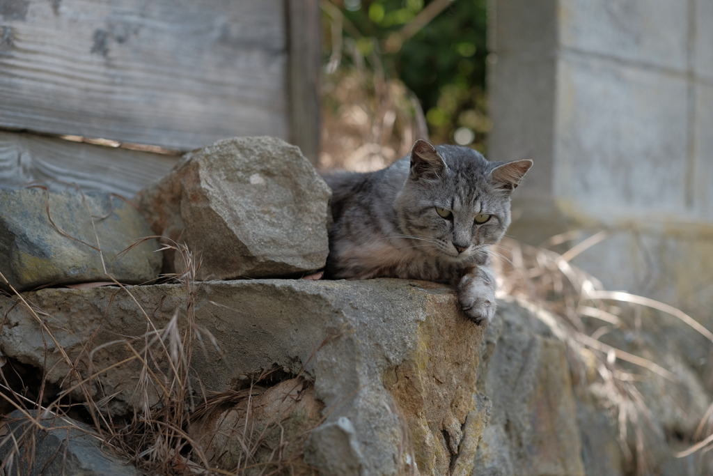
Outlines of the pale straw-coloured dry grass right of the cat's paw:
{"type": "MultiPolygon", "coordinates": [[[[578,245],[556,253],[548,246],[560,245],[578,236],[565,233],[548,240],[536,248],[506,238],[493,246],[492,254],[498,274],[501,297],[511,296],[526,308],[538,314],[553,333],[563,340],[569,349],[570,369],[573,381],[591,385],[604,405],[612,410],[618,420],[619,440],[628,471],[637,475],[650,474],[652,452],[665,447],[665,435],[654,417],[646,398],[637,388],[637,382],[648,378],[640,374],[645,369],[670,385],[678,385],[679,379],[670,370],[655,362],[660,353],[639,342],[640,353],[625,352],[602,342],[610,333],[631,330],[637,320],[637,310],[651,308],[678,318],[696,332],[713,342],[713,334],[689,315],[670,305],[650,298],[629,293],[611,292],[588,273],[570,264],[570,260],[590,246],[605,240],[609,233],[602,231],[583,240],[578,245]],[[639,309],[637,309],[639,308],[639,309]],[[622,365],[622,362],[626,365],[622,365]],[[632,370],[640,368],[640,371],[632,370]]],[[[645,372],[644,372],[645,374],[645,372]]],[[[677,409],[686,412],[686,408],[677,409]]],[[[709,414],[713,413],[713,405],[709,414]]],[[[704,422],[704,416],[698,438],[704,422]]],[[[711,430],[711,428],[709,428],[711,430]]],[[[694,445],[689,451],[676,456],[683,457],[695,450],[711,447],[713,437],[694,445]]]]}

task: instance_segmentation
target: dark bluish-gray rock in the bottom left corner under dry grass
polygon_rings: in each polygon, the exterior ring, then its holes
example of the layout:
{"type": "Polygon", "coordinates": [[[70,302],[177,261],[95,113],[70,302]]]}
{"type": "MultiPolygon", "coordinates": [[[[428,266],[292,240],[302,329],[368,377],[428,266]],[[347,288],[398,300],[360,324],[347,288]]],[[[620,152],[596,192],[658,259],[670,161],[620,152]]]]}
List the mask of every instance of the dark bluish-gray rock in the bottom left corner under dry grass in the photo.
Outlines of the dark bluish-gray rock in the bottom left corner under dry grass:
{"type": "Polygon", "coordinates": [[[4,474],[24,476],[138,476],[135,467],[101,450],[96,433],[71,419],[49,417],[40,420],[48,429],[31,424],[20,410],[6,416],[9,430],[0,441],[0,461],[12,463],[4,474]],[[81,429],[79,429],[81,428],[81,429]],[[10,437],[11,439],[7,439],[10,437]],[[15,442],[17,445],[15,445],[15,442]]]}

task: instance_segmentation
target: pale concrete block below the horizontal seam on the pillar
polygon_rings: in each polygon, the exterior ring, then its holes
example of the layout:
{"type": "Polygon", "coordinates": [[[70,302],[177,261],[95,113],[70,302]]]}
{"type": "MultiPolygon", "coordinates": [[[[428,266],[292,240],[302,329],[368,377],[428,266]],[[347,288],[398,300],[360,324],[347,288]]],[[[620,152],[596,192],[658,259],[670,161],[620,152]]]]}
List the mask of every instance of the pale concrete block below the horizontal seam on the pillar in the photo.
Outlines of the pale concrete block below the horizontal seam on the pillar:
{"type": "Polygon", "coordinates": [[[610,61],[560,61],[553,198],[573,215],[682,218],[685,79],[610,61]]]}

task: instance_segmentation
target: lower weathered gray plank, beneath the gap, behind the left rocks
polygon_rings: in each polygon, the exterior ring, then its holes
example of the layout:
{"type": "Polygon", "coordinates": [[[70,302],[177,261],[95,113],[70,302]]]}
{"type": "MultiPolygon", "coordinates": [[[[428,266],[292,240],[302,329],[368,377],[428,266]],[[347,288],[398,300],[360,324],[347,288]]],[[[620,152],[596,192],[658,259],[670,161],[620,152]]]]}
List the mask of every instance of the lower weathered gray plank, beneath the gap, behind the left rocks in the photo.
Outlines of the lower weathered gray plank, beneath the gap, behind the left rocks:
{"type": "Polygon", "coordinates": [[[141,188],[165,176],[179,159],[0,131],[0,188],[38,181],[53,190],[64,190],[76,183],[83,190],[132,198],[141,188]]]}

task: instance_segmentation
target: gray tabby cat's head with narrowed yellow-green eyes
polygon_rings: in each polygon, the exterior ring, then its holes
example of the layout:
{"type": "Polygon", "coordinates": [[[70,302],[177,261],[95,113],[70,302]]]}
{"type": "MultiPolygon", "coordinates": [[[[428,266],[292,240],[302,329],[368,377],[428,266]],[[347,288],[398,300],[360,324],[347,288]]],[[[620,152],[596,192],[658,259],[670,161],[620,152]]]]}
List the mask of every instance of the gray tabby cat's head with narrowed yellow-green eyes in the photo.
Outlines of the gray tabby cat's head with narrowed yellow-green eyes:
{"type": "Polygon", "coordinates": [[[419,239],[424,253],[472,259],[505,234],[510,195],[532,164],[488,162],[471,148],[416,141],[396,199],[401,231],[419,239]]]}

